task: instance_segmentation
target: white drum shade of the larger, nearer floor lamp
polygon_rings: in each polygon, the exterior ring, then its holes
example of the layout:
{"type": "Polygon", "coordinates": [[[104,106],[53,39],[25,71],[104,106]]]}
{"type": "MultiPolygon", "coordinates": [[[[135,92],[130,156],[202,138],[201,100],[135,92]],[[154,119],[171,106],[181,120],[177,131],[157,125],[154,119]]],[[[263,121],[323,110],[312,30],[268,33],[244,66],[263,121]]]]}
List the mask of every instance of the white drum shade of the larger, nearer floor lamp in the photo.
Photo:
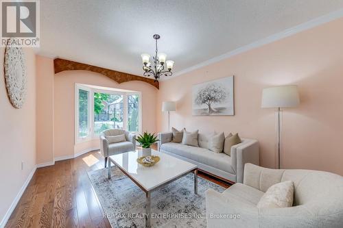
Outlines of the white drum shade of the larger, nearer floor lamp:
{"type": "Polygon", "coordinates": [[[300,103],[298,86],[264,88],[261,107],[295,107],[300,103]]]}

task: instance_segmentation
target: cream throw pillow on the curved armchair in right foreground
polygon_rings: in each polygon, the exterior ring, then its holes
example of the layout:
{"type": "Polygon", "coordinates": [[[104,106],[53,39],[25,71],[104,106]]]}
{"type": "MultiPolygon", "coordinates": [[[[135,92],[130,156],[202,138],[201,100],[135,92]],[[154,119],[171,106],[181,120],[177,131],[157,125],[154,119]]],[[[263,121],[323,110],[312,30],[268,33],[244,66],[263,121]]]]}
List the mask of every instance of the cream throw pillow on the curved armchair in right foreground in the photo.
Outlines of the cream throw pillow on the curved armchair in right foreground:
{"type": "Polygon", "coordinates": [[[294,197],[293,181],[283,181],[270,186],[263,194],[257,208],[292,207],[294,197]]]}

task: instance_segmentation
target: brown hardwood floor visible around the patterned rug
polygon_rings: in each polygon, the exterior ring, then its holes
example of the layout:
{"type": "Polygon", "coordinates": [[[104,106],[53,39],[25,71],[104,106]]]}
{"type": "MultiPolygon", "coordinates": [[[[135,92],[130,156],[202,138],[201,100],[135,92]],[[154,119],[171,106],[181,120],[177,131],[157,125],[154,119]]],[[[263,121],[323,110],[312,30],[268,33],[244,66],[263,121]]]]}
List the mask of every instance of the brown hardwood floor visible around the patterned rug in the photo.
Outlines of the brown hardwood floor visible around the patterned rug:
{"type": "MultiPolygon", "coordinates": [[[[87,175],[101,168],[99,151],[38,168],[5,227],[110,227],[87,175]]],[[[230,186],[204,173],[199,176],[230,186]]]]}

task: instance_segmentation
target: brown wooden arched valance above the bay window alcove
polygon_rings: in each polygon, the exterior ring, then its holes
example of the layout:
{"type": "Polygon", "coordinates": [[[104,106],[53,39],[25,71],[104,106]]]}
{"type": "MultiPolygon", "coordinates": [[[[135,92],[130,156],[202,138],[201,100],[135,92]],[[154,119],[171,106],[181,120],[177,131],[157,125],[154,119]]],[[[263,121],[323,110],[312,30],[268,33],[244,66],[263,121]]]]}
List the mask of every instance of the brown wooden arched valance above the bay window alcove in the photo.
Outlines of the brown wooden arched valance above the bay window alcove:
{"type": "Polygon", "coordinates": [[[95,73],[100,73],[117,81],[117,83],[121,84],[126,81],[144,81],[152,86],[155,86],[157,89],[159,88],[158,81],[154,81],[154,79],[146,78],[146,77],[139,77],[137,75],[130,75],[128,73],[122,73],[119,71],[113,71],[110,69],[102,68],[99,66],[92,66],[88,64],[82,64],[80,62],[73,62],[70,60],[62,60],[60,58],[54,59],[54,69],[55,73],[60,73],[62,71],[93,71],[95,73]]]}

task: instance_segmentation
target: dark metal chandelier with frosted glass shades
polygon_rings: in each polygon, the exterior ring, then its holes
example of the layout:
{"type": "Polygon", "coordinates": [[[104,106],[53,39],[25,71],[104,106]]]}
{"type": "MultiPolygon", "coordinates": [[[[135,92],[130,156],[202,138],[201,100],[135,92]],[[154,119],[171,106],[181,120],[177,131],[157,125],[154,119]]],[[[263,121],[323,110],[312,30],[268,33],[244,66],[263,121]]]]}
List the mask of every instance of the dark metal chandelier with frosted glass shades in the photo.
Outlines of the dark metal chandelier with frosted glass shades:
{"type": "Polygon", "coordinates": [[[160,38],[160,35],[154,34],[152,36],[155,39],[156,42],[156,51],[155,56],[152,56],[152,64],[150,62],[150,55],[143,53],[141,55],[143,60],[143,76],[150,77],[153,76],[155,78],[155,81],[157,81],[161,75],[165,76],[171,76],[173,73],[171,73],[171,69],[173,68],[174,61],[166,60],[167,55],[165,53],[158,53],[157,50],[157,40],[160,38]],[[165,66],[167,65],[167,70],[165,70],[165,66]]]}

